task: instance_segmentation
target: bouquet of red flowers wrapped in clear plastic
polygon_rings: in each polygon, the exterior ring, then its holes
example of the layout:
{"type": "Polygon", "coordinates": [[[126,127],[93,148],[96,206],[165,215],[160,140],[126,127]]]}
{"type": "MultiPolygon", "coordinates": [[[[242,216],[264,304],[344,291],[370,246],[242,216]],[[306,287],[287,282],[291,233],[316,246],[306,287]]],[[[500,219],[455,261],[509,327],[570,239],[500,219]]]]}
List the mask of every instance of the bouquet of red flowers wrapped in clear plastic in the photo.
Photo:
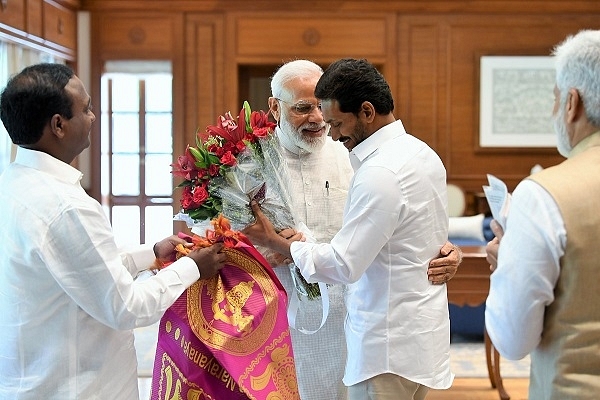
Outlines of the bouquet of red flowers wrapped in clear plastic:
{"type": "MultiPolygon", "coordinates": [[[[183,178],[175,219],[203,235],[222,214],[232,229],[242,230],[254,221],[249,203],[257,200],[275,229],[294,227],[287,167],[274,128],[265,112],[252,111],[244,102],[237,118],[228,112],[205,132],[197,131],[196,147],[188,146],[171,165],[173,175],[183,178]]],[[[318,284],[306,282],[295,266],[291,271],[301,294],[320,295],[318,284]]]]}

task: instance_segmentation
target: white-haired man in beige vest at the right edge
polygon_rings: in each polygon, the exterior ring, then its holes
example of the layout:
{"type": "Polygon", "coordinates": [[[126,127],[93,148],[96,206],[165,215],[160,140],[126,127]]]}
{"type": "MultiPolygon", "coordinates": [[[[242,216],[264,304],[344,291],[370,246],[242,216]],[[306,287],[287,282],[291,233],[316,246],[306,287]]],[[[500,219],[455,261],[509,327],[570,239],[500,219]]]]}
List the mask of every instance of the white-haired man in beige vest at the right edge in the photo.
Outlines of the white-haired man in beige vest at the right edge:
{"type": "Polygon", "coordinates": [[[485,325],[508,359],[531,353],[530,399],[600,393],[600,31],[554,50],[559,165],[515,188],[506,232],[495,222],[485,325]]]}

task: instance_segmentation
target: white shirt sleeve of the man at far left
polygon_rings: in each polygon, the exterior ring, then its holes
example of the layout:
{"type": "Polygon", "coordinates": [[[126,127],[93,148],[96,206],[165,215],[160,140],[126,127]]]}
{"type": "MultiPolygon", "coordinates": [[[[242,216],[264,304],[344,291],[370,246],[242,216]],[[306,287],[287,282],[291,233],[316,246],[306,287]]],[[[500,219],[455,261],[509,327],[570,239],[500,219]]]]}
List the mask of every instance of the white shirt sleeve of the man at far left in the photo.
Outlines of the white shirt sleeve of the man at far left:
{"type": "Polygon", "coordinates": [[[115,329],[158,321],[164,311],[199,278],[195,262],[182,257],[141,281],[133,271],[151,266],[149,246],[123,256],[98,207],[65,210],[48,227],[41,257],[63,290],[90,316],[115,329]],[[125,262],[124,262],[125,261],[125,262]]]}

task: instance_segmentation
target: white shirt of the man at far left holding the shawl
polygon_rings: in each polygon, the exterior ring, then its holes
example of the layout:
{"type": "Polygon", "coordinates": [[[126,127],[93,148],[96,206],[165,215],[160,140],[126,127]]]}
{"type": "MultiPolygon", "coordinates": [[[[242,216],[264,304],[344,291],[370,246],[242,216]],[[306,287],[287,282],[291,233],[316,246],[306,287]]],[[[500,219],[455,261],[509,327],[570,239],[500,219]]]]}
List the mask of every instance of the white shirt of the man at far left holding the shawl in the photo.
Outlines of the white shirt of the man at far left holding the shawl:
{"type": "Polygon", "coordinates": [[[199,278],[183,257],[142,282],[151,246],[119,254],[81,173],[18,148],[0,176],[0,398],[138,398],[132,329],[199,278]]]}

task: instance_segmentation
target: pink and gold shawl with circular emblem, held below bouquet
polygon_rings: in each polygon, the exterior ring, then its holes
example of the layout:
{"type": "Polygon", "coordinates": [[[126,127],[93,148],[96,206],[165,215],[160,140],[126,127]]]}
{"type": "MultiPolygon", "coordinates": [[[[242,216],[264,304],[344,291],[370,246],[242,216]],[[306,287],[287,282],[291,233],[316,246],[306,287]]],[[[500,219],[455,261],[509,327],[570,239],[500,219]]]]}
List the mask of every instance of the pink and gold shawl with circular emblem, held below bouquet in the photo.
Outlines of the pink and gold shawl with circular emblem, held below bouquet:
{"type": "Polygon", "coordinates": [[[227,220],[213,226],[206,238],[191,239],[198,246],[223,241],[227,264],[162,317],[151,400],[300,399],[285,289],[227,220]]]}

